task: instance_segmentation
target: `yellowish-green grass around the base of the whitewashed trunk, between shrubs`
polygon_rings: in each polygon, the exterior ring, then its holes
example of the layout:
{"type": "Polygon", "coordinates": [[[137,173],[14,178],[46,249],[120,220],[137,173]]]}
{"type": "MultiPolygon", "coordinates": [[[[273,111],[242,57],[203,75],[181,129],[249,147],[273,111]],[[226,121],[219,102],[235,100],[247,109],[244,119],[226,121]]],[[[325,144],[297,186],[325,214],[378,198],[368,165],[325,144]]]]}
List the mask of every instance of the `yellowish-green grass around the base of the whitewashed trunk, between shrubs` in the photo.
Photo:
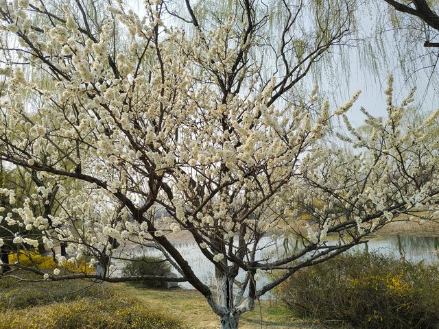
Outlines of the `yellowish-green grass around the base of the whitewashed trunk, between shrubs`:
{"type": "MultiPolygon", "coordinates": [[[[156,308],[165,313],[169,312],[170,315],[183,319],[193,329],[213,329],[219,326],[217,316],[198,291],[144,289],[126,283],[115,284],[115,289],[139,300],[144,306],[156,308]]],[[[291,315],[291,310],[280,302],[264,300],[261,301],[261,308],[256,302],[254,310],[242,315],[239,328],[326,329],[331,328],[331,326],[318,321],[294,318],[291,315]]],[[[340,324],[336,324],[332,328],[340,328],[340,324]]]]}

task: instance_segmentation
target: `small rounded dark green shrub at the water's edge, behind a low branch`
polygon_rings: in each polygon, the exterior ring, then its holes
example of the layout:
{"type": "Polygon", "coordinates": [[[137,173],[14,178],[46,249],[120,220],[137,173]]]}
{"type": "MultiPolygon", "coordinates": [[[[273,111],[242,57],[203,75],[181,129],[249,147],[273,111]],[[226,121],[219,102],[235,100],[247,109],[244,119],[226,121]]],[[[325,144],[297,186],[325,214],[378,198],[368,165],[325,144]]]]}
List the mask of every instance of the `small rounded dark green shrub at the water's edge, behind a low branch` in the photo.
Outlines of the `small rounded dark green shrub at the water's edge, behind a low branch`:
{"type": "MultiPolygon", "coordinates": [[[[133,258],[122,270],[125,276],[169,276],[171,265],[167,260],[153,256],[141,256],[133,258]]],[[[148,288],[163,288],[166,282],[148,280],[135,282],[148,288]]]]}

